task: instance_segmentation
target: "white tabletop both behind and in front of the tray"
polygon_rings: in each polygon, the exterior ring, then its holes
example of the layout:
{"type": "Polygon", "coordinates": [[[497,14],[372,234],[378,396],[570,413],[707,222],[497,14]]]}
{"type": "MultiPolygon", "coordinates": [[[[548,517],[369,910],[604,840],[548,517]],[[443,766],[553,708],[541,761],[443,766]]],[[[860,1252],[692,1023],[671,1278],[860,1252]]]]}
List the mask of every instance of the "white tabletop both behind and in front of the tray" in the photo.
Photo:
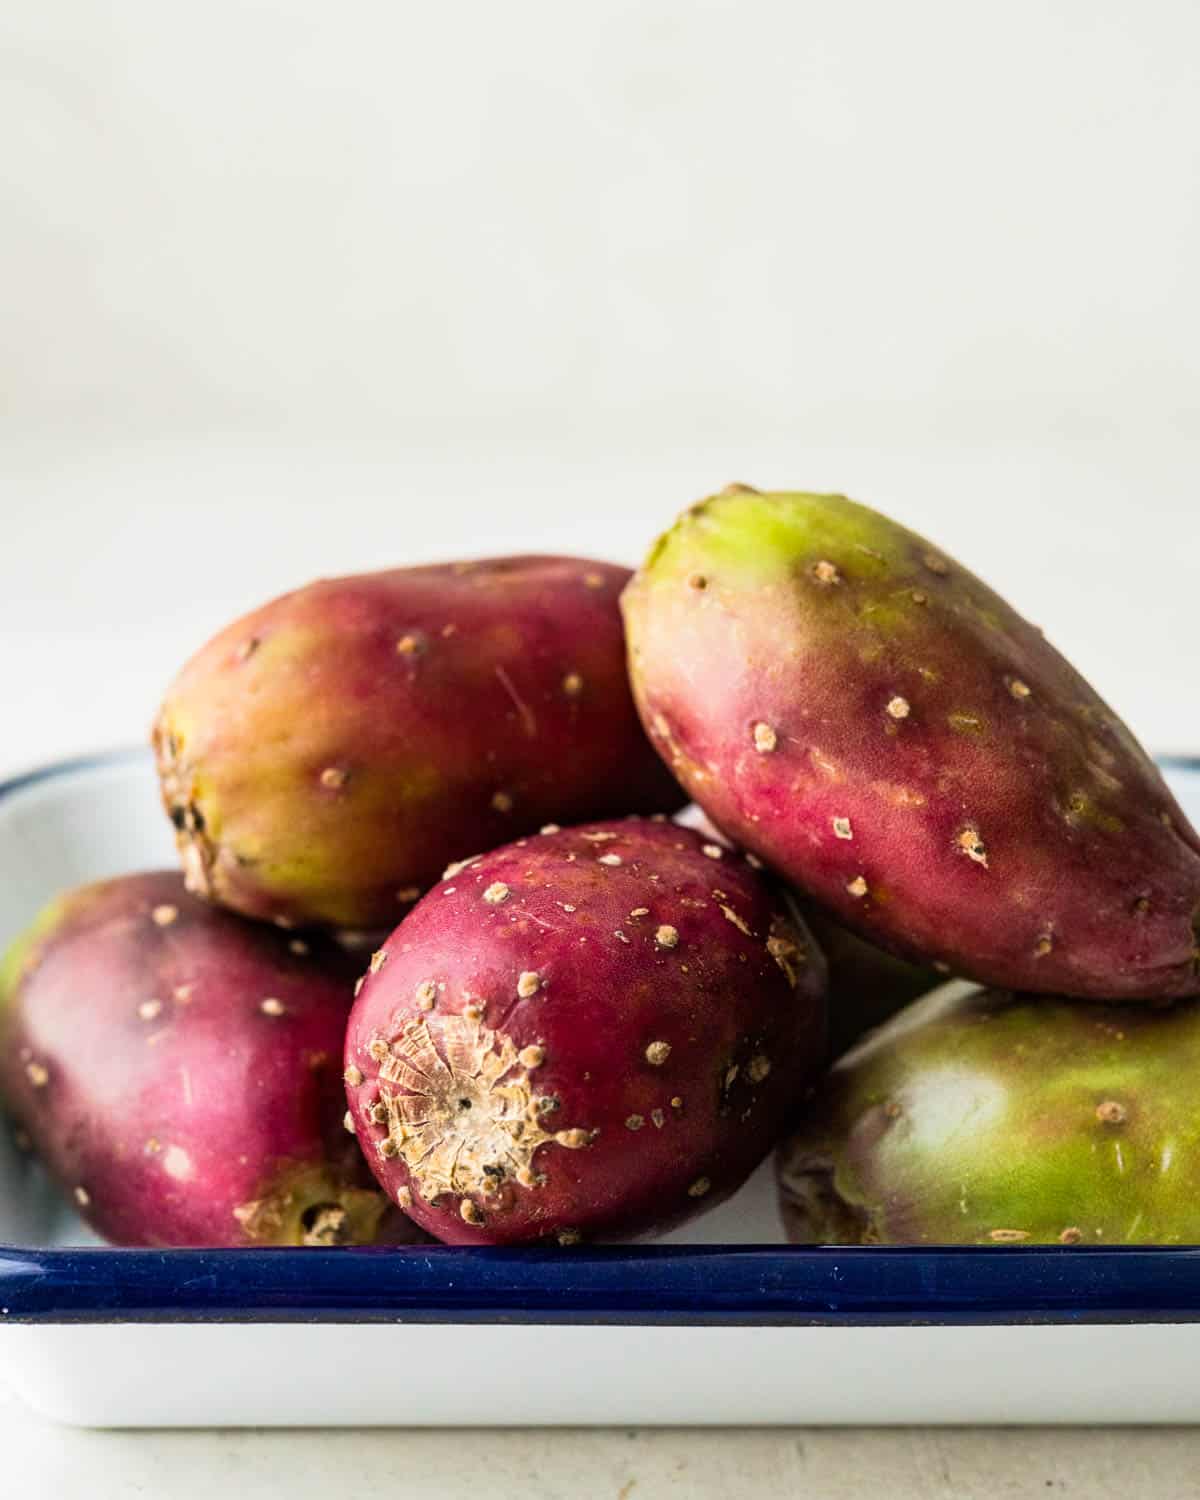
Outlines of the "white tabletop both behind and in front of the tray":
{"type": "MultiPolygon", "coordinates": [[[[0,776],[140,740],[182,657],[321,573],[496,550],[634,561],[738,478],[894,510],[1042,624],[1161,750],[1200,748],[1200,442],[820,448],[698,442],[588,460],[230,440],[0,453],[0,776]]],[[[1192,1431],[80,1432],[0,1394],[3,1491],[1200,1496],[1192,1431]]]]}

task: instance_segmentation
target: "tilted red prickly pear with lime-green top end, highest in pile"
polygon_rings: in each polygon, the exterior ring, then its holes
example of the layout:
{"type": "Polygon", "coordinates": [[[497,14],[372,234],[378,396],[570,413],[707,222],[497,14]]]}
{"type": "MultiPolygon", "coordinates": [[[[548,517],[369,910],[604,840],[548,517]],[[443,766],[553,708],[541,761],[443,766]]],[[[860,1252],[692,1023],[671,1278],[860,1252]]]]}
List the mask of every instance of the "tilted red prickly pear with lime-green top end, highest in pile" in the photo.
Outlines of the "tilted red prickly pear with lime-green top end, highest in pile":
{"type": "Polygon", "coordinates": [[[1200,838],[1158,770],[921,537],[735,488],[658,540],[622,608],[664,760],[837,921],[1028,992],[1200,988],[1200,838]]]}

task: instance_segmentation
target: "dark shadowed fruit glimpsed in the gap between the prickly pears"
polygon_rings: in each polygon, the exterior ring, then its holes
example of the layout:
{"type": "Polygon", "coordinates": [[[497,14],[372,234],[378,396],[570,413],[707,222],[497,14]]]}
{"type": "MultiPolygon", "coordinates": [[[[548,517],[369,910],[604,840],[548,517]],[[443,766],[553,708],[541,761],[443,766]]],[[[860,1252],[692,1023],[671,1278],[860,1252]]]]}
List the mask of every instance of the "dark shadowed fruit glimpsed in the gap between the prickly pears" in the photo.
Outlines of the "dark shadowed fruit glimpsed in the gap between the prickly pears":
{"type": "Polygon", "coordinates": [[[906,963],[836,922],[814,903],[792,896],[830,968],[830,1054],[840,1058],[860,1036],[896,1016],[945,975],[906,963]]]}

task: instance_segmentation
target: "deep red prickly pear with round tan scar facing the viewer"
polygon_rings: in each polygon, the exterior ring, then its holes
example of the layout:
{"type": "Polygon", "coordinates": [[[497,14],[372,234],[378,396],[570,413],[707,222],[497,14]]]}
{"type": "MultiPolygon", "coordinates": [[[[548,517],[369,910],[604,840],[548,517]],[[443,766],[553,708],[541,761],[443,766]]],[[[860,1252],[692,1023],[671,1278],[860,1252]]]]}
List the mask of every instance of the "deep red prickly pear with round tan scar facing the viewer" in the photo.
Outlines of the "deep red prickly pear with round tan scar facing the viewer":
{"type": "Polygon", "coordinates": [[[375,956],[346,1098],[450,1244],[627,1239],[728,1197],[825,1054],[825,974],[754,872],[652,819],[519,840],[375,956]]]}

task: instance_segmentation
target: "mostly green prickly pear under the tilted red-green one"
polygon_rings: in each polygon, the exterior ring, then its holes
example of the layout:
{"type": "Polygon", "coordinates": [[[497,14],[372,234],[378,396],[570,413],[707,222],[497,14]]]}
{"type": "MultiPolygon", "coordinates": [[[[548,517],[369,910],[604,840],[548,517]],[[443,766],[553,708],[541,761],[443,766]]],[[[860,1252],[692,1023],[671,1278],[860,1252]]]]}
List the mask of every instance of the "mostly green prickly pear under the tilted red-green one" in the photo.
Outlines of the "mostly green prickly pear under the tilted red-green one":
{"type": "Polygon", "coordinates": [[[1200,1002],[950,986],[825,1078],[780,1148],[796,1244],[1200,1242],[1200,1002]]]}

